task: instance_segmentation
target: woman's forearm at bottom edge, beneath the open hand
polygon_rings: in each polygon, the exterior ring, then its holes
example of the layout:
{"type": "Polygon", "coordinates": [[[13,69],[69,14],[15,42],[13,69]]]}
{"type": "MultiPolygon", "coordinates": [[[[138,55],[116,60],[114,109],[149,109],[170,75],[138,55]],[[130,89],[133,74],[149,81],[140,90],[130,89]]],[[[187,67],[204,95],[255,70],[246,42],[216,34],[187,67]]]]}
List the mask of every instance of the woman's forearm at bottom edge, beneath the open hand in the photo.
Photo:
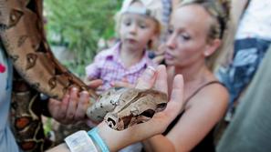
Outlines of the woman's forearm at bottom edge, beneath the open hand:
{"type": "Polygon", "coordinates": [[[171,140],[162,135],[157,135],[144,140],[143,147],[147,152],[176,151],[171,140]]]}

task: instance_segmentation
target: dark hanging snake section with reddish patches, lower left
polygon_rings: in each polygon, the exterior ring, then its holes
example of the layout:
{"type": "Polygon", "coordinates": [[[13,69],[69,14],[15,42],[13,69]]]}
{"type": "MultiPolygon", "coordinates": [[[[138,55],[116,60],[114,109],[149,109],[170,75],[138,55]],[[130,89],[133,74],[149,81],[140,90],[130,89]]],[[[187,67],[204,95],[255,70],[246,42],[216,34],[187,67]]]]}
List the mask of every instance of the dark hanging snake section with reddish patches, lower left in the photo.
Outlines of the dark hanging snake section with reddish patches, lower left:
{"type": "Polygon", "coordinates": [[[16,71],[13,77],[11,124],[18,145],[24,151],[44,151],[53,142],[44,135],[41,115],[47,101],[41,100],[39,92],[31,88],[16,71]]]}

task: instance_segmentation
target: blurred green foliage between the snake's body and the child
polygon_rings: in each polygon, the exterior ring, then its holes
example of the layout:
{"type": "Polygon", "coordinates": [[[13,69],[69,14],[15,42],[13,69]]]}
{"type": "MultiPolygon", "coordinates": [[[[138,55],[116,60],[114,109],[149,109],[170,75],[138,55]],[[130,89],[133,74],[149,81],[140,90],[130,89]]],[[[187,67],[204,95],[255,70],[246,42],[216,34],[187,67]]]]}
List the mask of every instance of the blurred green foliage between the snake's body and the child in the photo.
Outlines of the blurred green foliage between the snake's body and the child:
{"type": "Polygon", "coordinates": [[[114,35],[114,19],[121,0],[46,0],[47,39],[51,45],[67,46],[76,55],[64,63],[84,75],[84,66],[96,55],[100,37],[114,35]],[[57,37],[57,38],[56,38],[57,37]]]}

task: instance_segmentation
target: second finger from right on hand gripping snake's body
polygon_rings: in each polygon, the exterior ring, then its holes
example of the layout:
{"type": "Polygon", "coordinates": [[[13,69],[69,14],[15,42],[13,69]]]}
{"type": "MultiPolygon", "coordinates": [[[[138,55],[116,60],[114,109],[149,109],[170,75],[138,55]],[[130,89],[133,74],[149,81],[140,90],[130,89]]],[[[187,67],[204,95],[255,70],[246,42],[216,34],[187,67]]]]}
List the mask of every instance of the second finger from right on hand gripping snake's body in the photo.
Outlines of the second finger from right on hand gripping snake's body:
{"type": "Polygon", "coordinates": [[[68,102],[68,111],[66,118],[68,120],[73,120],[75,117],[76,109],[78,104],[78,88],[73,87],[70,91],[70,97],[68,102]]]}

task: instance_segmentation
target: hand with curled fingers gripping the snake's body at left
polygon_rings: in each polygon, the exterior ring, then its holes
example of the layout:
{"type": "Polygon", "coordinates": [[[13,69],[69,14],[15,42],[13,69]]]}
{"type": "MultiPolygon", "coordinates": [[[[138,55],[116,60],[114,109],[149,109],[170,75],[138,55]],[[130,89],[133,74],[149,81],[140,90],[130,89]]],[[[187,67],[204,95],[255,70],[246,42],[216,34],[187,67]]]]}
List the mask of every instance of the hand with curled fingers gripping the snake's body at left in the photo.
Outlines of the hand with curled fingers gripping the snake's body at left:
{"type": "Polygon", "coordinates": [[[89,106],[89,93],[82,91],[78,93],[78,88],[73,87],[63,97],[62,101],[50,98],[48,110],[53,118],[61,124],[71,124],[85,119],[89,106]]]}

